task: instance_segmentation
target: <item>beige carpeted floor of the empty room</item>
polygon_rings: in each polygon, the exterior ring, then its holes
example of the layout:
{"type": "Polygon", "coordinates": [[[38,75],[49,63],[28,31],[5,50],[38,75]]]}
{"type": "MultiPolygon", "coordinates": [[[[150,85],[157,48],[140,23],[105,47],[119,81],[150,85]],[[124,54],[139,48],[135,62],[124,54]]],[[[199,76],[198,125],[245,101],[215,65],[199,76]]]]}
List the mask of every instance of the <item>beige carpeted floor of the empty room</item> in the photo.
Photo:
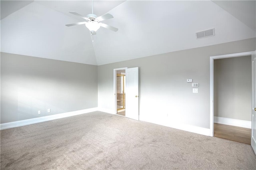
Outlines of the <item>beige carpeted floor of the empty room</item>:
{"type": "Polygon", "coordinates": [[[93,112],[1,130],[1,170],[256,169],[250,145],[93,112]]]}

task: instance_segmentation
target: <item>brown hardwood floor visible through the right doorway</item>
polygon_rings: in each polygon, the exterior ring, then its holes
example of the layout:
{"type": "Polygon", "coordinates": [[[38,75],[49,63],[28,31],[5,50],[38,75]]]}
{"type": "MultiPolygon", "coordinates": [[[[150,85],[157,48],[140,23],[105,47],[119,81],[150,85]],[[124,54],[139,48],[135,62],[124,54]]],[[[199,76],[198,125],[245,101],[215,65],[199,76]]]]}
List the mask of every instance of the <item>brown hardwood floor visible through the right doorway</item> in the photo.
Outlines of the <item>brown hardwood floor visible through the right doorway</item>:
{"type": "Polygon", "coordinates": [[[214,136],[251,144],[251,129],[214,123],[214,136]]]}

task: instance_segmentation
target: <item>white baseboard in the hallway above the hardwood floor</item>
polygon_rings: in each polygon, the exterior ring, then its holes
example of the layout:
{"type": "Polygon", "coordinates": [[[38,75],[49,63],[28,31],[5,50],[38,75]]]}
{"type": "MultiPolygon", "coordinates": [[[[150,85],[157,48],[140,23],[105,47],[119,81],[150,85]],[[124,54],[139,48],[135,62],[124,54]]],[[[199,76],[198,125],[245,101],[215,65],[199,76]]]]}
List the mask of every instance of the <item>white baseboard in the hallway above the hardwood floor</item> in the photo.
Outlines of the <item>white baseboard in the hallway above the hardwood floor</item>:
{"type": "Polygon", "coordinates": [[[251,121],[243,121],[243,120],[230,119],[230,118],[225,118],[225,117],[214,116],[214,123],[230,125],[230,126],[235,126],[235,127],[252,128],[251,121]]]}

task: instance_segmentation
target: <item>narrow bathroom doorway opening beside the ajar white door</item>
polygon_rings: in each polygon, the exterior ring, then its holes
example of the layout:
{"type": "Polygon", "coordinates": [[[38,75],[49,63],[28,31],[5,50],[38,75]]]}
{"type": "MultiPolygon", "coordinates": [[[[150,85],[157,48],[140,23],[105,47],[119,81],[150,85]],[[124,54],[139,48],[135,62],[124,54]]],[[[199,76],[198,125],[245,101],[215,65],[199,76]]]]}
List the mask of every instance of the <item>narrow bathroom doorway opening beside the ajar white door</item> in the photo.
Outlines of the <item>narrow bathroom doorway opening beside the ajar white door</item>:
{"type": "Polygon", "coordinates": [[[116,71],[116,114],[125,116],[125,70],[116,71]]]}

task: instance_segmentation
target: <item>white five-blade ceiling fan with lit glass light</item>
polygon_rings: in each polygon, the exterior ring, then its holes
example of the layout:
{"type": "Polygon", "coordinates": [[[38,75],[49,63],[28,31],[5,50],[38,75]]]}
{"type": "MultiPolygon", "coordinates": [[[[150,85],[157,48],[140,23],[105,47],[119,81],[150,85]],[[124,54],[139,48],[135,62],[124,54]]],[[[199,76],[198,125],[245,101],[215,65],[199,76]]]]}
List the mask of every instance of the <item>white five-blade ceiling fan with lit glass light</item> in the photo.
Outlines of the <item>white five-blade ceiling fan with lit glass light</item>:
{"type": "Polygon", "coordinates": [[[76,16],[79,16],[81,18],[84,18],[86,21],[84,21],[84,22],[76,22],[74,24],[66,24],[66,26],[68,26],[68,27],[85,24],[85,26],[90,30],[92,35],[95,35],[96,31],[100,27],[107,28],[107,29],[112,30],[114,32],[118,31],[118,28],[115,28],[113,26],[101,23],[101,21],[103,21],[103,20],[108,20],[108,19],[114,18],[111,14],[104,14],[104,15],[98,16],[98,17],[95,14],[93,14],[93,0],[92,0],[92,14],[88,14],[85,17],[85,16],[82,16],[82,15],[76,13],[76,12],[70,11],[69,13],[70,14],[74,14],[76,16]]]}

